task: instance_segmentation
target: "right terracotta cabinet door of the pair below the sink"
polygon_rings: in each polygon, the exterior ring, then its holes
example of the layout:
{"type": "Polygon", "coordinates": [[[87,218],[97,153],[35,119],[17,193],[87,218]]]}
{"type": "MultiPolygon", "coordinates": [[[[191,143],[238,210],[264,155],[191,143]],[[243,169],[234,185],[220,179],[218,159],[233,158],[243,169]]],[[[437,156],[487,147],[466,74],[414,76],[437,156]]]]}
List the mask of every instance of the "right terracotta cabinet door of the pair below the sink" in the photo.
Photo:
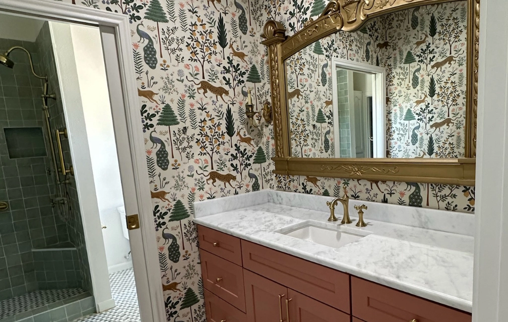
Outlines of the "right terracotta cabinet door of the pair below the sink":
{"type": "Polygon", "coordinates": [[[291,322],[350,322],[350,315],[308,296],[291,289],[288,290],[288,296],[291,322]]]}

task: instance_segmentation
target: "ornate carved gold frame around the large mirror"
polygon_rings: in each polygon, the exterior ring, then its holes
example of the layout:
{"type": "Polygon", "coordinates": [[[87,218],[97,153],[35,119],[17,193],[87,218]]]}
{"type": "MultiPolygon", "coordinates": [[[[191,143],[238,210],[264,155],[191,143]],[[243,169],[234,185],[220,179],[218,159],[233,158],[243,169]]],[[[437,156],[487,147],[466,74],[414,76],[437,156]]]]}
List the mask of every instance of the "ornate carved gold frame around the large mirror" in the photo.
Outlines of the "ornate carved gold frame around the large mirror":
{"type": "Polygon", "coordinates": [[[467,91],[465,158],[460,159],[340,159],[293,158],[290,154],[288,103],[284,61],[299,50],[338,30],[354,31],[380,15],[458,0],[331,0],[316,20],[287,37],[278,21],[265,24],[262,44],[268,47],[272,92],[275,174],[341,177],[373,181],[442,183],[474,186],[477,110],[480,0],[468,1],[467,91]]]}

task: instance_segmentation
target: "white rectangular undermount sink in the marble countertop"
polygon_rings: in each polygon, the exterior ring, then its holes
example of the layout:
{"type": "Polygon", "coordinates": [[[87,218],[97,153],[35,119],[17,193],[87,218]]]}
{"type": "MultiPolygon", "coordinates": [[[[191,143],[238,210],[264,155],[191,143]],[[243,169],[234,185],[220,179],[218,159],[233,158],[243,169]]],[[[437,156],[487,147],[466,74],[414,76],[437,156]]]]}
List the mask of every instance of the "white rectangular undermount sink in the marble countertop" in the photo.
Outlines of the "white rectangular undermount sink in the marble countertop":
{"type": "Polygon", "coordinates": [[[305,225],[283,234],[334,248],[342,247],[365,237],[313,225],[305,225]]]}

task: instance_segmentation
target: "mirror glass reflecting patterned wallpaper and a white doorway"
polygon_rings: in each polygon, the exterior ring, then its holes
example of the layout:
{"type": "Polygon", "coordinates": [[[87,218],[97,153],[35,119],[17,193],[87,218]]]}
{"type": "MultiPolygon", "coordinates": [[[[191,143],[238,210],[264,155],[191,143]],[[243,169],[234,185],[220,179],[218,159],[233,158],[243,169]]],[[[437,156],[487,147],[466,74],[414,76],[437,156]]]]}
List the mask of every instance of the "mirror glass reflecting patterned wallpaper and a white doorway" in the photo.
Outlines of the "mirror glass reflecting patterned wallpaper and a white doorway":
{"type": "Polygon", "coordinates": [[[371,19],[288,58],[292,156],[464,157],[466,37],[457,1],[371,19]]]}

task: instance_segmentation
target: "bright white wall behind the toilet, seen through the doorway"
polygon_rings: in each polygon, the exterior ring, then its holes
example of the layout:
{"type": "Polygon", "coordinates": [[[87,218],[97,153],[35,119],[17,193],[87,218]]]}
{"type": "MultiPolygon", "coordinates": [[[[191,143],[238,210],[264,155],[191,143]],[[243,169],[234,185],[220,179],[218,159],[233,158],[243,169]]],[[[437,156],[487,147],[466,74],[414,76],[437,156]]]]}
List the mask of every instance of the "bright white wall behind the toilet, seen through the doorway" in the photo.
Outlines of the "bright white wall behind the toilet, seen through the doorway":
{"type": "Polygon", "coordinates": [[[106,69],[98,29],[71,25],[79,87],[90,149],[93,180],[110,273],[132,267],[116,208],[123,206],[118,156],[111,117],[106,69]]]}

